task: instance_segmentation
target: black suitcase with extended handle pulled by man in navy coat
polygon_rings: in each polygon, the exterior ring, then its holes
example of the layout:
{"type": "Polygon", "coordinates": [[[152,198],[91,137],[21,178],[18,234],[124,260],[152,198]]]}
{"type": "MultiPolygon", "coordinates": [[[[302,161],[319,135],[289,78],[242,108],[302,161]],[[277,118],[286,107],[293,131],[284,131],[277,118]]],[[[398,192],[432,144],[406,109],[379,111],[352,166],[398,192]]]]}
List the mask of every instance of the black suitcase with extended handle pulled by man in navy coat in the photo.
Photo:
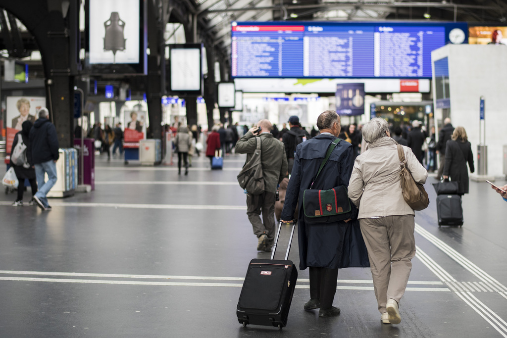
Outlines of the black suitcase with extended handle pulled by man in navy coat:
{"type": "Polygon", "coordinates": [[[287,245],[284,260],[273,259],[280,235],[281,222],[276,233],[271,259],[252,259],[246,271],[236,315],[239,323],[277,326],[287,324],[288,311],[298,279],[298,271],[291,260],[287,260],[294,236],[294,222],[291,238],[287,245]]]}

